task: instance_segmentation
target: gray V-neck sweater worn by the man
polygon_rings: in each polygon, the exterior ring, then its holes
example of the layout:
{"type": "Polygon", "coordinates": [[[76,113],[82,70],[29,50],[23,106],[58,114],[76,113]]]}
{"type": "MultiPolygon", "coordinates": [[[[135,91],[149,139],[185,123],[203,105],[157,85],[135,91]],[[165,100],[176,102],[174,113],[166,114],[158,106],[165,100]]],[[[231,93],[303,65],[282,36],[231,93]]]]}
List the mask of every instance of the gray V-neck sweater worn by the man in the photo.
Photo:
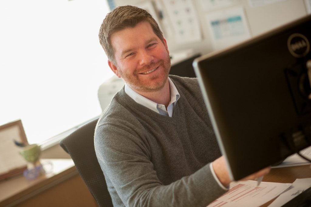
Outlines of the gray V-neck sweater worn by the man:
{"type": "Polygon", "coordinates": [[[97,123],[95,151],[114,206],[207,206],[225,193],[209,163],[220,150],[196,78],[170,76],[173,117],[121,89],[97,123]]]}

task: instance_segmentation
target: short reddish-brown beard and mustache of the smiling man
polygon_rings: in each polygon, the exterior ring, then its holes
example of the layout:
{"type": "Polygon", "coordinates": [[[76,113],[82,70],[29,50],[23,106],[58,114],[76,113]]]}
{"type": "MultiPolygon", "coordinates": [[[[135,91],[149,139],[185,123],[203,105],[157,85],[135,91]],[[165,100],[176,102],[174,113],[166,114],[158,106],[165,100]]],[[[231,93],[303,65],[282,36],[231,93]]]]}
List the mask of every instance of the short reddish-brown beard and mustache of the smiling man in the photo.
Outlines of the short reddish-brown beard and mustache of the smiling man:
{"type": "MultiPolygon", "coordinates": [[[[148,71],[152,68],[162,67],[163,71],[161,73],[156,73],[153,76],[149,75],[148,79],[139,78],[141,74],[139,72],[134,72],[133,74],[121,73],[120,76],[129,87],[131,87],[135,91],[140,92],[155,92],[162,89],[167,81],[169,71],[171,68],[171,60],[169,54],[166,59],[160,60],[156,63],[151,63],[149,65],[144,66],[140,69],[140,71],[148,71]]],[[[157,68],[157,70],[159,69],[157,68]]]]}

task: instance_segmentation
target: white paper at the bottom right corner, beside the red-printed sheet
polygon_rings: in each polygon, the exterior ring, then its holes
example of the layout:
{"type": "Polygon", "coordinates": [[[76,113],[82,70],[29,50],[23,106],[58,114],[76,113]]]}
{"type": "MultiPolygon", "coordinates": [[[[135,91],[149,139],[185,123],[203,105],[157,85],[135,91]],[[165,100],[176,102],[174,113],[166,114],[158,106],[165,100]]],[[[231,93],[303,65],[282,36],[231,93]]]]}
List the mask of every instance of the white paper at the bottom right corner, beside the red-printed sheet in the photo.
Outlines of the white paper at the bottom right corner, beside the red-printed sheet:
{"type": "Polygon", "coordinates": [[[309,187],[311,187],[311,178],[296,179],[291,188],[277,197],[268,207],[282,206],[309,187]]]}

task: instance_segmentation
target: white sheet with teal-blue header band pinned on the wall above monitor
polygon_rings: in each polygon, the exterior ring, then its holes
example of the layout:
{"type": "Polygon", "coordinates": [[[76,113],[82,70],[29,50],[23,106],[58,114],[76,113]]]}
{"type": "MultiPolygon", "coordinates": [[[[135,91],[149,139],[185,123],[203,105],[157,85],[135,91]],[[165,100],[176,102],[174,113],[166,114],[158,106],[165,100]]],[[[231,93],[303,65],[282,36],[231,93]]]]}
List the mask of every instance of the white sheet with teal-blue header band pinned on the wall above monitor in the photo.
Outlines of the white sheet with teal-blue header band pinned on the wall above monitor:
{"type": "Polygon", "coordinates": [[[207,13],[213,50],[238,44],[251,37],[243,7],[207,13]]]}

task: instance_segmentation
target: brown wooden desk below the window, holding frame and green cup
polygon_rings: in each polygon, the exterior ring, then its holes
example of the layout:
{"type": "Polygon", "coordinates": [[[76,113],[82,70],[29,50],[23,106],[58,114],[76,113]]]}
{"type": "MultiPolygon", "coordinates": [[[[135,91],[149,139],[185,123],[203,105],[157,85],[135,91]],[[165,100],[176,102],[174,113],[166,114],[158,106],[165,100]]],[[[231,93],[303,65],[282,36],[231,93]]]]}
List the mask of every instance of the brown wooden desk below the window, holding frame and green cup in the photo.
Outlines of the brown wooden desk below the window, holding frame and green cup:
{"type": "Polygon", "coordinates": [[[35,180],[17,176],[0,182],[0,207],[90,206],[96,202],[79,176],[72,159],[42,159],[52,171],[35,180]]]}

